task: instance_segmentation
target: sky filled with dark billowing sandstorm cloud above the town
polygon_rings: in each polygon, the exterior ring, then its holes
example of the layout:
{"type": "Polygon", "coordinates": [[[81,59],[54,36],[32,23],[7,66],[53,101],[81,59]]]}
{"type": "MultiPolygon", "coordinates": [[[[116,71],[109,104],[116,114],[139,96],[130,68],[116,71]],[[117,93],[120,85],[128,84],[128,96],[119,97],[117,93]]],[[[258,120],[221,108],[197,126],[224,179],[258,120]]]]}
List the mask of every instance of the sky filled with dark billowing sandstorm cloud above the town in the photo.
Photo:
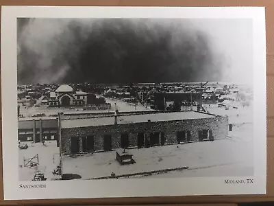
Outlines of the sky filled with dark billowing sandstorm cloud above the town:
{"type": "Polygon", "coordinates": [[[251,19],[18,19],[17,45],[18,84],[253,80],[251,19]]]}

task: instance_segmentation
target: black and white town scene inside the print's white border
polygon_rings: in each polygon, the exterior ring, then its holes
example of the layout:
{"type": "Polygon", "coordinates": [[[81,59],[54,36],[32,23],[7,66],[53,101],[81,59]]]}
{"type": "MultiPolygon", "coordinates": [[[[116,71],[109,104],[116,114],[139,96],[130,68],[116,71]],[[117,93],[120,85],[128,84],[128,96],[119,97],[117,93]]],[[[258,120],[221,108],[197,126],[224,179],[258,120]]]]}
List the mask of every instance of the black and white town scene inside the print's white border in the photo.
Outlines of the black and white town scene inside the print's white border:
{"type": "Polygon", "coordinates": [[[247,181],[265,139],[253,31],[251,17],[16,17],[13,178],[247,181]]]}

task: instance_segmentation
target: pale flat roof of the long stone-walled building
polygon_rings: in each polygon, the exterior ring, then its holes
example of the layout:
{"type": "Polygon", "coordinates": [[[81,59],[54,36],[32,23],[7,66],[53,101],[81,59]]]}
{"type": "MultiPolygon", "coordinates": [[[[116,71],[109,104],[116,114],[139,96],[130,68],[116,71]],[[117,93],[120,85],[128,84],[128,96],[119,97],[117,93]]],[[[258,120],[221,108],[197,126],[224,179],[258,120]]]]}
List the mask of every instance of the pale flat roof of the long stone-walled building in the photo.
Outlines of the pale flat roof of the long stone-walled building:
{"type": "MultiPolygon", "coordinates": [[[[203,119],[212,118],[215,115],[200,113],[197,111],[182,111],[173,113],[155,113],[145,115],[121,115],[117,116],[117,124],[134,124],[148,122],[176,121],[184,119],[203,119]]],[[[88,126],[114,125],[114,116],[112,117],[93,117],[83,119],[64,119],[61,121],[61,128],[79,128],[88,126]]]]}

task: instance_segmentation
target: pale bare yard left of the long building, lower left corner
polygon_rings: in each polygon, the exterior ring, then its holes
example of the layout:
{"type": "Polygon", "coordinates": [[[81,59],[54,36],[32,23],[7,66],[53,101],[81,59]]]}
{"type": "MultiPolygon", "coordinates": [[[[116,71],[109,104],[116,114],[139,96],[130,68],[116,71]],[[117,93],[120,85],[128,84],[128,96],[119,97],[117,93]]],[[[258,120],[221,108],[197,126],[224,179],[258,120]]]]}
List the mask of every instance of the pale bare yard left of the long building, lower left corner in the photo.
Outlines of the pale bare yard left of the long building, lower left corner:
{"type": "MultiPolygon", "coordinates": [[[[58,178],[52,174],[60,163],[60,152],[56,146],[56,141],[46,141],[45,146],[40,143],[30,144],[29,142],[21,142],[21,144],[27,144],[29,148],[27,150],[18,148],[19,181],[32,181],[34,174],[38,171],[44,173],[47,180],[58,178]],[[24,158],[29,159],[35,155],[38,155],[39,165],[33,168],[24,167],[24,158]]],[[[37,161],[37,159],[33,161],[37,161]]]]}

